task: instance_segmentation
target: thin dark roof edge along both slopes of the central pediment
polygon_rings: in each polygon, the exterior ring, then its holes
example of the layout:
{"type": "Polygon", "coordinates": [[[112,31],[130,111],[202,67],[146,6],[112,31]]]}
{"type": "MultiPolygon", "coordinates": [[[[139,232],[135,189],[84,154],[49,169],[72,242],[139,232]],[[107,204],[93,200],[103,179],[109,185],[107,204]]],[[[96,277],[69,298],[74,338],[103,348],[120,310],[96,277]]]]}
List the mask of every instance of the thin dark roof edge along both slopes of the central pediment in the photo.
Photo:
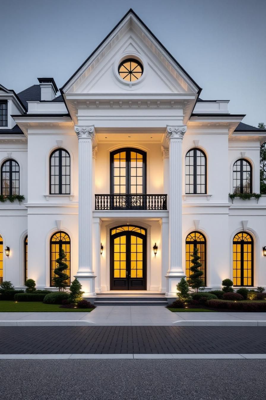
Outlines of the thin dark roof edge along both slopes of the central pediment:
{"type": "Polygon", "coordinates": [[[140,17],[132,10],[132,8],[130,8],[128,10],[128,12],[123,16],[123,18],[121,18],[121,20],[118,22],[118,24],[116,24],[116,26],[111,30],[111,32],[102,40],[102,42],[100,42],[99,46],[97,46],[97,48],[95,50],[93,50],[93,52],[89,55],[89,57],[83,62],[83,64],[81,64],[81,66],[77,69],[77,71],[74,72],[74,74],[67,80],[67,82],[65,82],[65,84],[59,89],[61,94],[64,93],[64,88],[67,84],[69,84],[69,82],[75,77],[75,75],[83,68],[83,66],[85,66],[85,64],[89,61],[89,59],[97,52],[97,50],[99,50],[99,48],[104,44],[104,42],[106,42],[106,40],[112,35],[112,33],[116,30],[116,28],[118,28],[118,26],[120,24],[122,24],[122,22],[126,19],[126,17],[132,14],[134,15],[134,17],[140,22],[140,24],[142,24],[142,26],[149,32],[149,34],[152,36],[152,38],[154,38],[156,40],[156,42],[159,44],[159,46],[162,47],[162,49],[167,53],[167,55],[173,60],[173,62],[175,62],[175,64],[177,64],[177,66],[180,68],[180,70],[182,70],[184,72],[184,74],[191,80],[191,82],[193,82],[193,84],[197,87],[198,89],[198,94],[201,92],[201,87],[191,78],[191,76],[184,70],[184,68],[179,64],[179,62],[177,62],[177,60],[175,60],[175,58],[171,55],[171,53],[164,47],[164,45],[160,42],[160,40],[158,40],[156,38],[156,36],[152,33],[152,31],[148,28],[148,26],[146,26],[146,24],[144,24],[144,22],[140,19],[140,17]]]}

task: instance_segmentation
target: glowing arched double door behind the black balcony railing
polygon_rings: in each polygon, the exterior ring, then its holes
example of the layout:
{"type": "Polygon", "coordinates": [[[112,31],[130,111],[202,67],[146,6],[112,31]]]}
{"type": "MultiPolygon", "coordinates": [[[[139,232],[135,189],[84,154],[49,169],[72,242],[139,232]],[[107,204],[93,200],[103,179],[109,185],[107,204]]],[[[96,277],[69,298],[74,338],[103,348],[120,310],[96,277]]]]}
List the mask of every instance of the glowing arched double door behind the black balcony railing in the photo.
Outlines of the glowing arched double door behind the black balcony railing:
{"type": "Polygon", "coordinates": [[[110,193],[118,195],[113,197],[112,207],[143,208],[146,199],[141,195],[146,194],[146,153],[134,148],[115,150],[110,154],[110,163],[110,193]]]}

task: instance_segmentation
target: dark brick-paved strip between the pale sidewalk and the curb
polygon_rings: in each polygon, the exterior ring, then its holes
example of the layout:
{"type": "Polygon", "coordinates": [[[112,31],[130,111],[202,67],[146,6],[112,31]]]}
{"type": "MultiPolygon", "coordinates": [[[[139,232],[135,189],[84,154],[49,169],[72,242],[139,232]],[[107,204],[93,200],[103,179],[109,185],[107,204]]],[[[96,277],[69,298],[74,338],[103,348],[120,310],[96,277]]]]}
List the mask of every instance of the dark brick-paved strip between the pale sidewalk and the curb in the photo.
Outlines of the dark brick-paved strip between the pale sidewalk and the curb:
{"type": "Polygon", "coordinates": [[[264,326],[4,326],[0,354],[265,354],[264,326]]]}

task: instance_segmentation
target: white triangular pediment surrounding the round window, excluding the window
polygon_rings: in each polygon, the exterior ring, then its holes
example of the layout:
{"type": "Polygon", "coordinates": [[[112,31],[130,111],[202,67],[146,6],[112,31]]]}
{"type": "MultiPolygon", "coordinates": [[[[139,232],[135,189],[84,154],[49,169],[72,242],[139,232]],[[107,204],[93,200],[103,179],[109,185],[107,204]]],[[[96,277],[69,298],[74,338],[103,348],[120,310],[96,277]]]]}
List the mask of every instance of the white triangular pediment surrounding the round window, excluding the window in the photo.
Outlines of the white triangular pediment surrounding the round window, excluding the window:
{"type": "Polygon", "coordinates": [[[65,95],[197,94],[200,88],[130,10],[63,86],[65,95]],[[130,84],[118,74],[125,58],[136,58],[143,75],[130,84]]]}

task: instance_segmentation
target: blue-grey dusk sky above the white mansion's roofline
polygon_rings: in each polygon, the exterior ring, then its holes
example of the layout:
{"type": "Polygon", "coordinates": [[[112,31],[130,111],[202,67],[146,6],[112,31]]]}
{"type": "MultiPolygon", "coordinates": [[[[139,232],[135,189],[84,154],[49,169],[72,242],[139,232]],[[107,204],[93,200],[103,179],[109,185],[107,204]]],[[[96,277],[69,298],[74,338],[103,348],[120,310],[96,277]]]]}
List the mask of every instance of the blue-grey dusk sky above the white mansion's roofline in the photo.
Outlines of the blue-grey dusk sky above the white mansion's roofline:
{"type": "Polygon", "coordinates": [[[204,100],[231,100],[245,123],[266,123],[265,0],[8,0],[1,2],[0,83],[16,92],[77,70],[132,8],[204,100]]]}

